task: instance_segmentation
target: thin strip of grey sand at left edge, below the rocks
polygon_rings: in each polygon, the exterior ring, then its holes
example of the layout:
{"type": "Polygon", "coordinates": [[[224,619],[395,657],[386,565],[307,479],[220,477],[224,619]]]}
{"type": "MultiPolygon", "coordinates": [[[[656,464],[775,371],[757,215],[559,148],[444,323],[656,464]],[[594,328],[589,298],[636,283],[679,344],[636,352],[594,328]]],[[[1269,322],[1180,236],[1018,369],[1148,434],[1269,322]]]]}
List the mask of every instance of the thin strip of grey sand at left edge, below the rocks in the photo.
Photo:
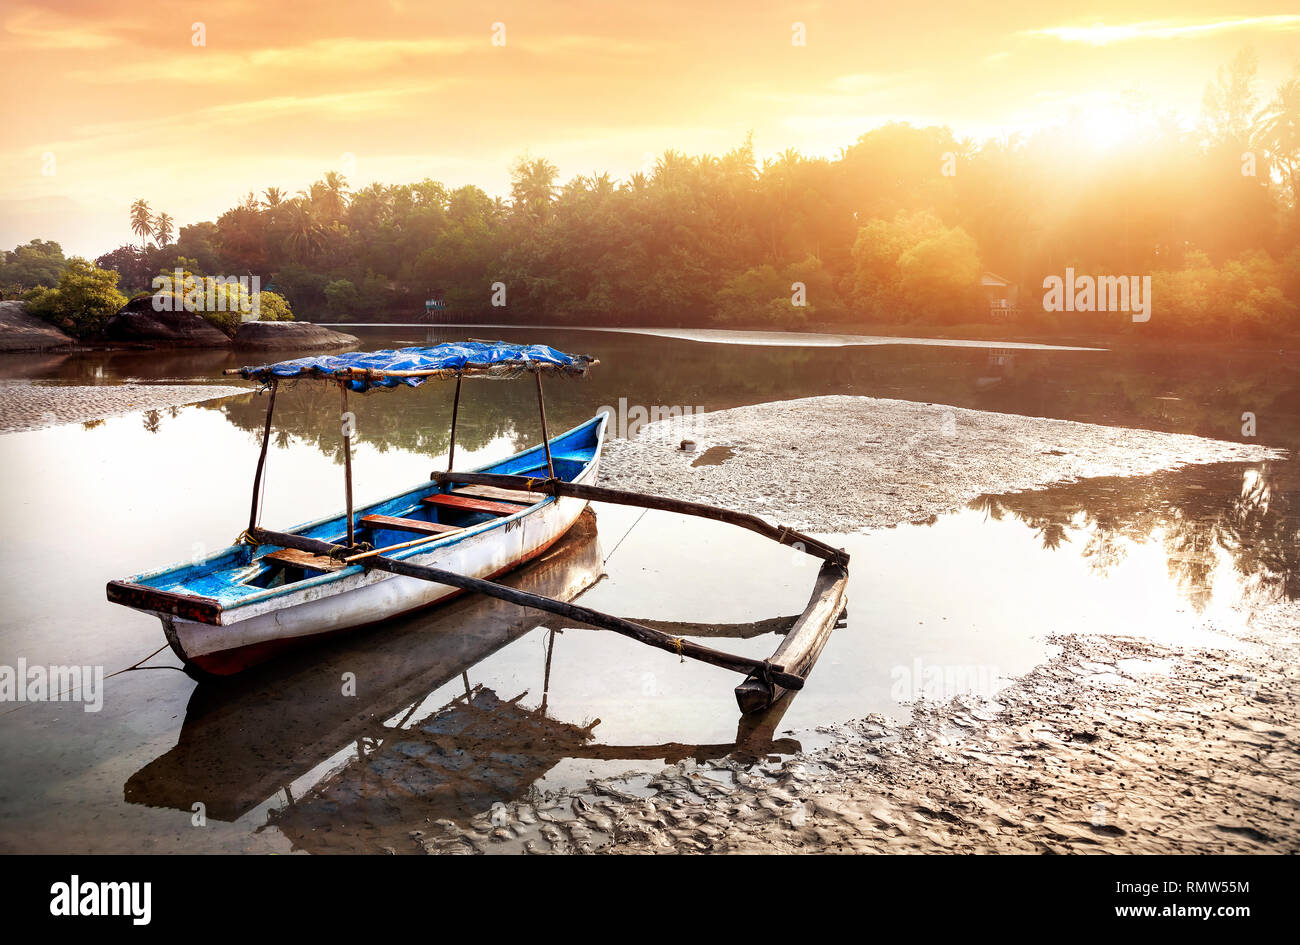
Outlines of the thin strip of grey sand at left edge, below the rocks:
{"type": "Polygon", "coordinates": [[[60,424],[103,420],[135,411],[182,407],[247,393],[242,387],[199,383],[124,383],[92,387],[0,383],[0,433],[40,430],[60,424]]]}

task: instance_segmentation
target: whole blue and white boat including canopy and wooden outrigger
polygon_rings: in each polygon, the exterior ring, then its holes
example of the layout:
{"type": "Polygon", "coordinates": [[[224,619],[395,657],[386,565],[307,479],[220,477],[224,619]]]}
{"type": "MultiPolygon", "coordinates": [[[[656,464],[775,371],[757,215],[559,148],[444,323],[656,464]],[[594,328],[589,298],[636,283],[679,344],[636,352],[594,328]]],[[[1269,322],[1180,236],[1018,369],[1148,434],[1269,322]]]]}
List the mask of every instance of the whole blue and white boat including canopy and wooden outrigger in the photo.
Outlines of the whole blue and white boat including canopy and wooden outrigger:
{"type": "Polygon", "coordinates": [[[153,614],[172,650],[196,676],[229,676],[313,637],[374,624],[462,593],[478,593],[581,624],[614,630],[682,658],[742,673],[744,712],[767,708],[803,688],[845,606],[849,556],[811,536],[755,515],[595,485],[607,415],[551,438],[542,377],[585,377],[598,364],[545,344],[460,342],[326,355],[234,368],[268,391],[248,528],[235,545],[122,581],[108,599],[153,614]],[[456,417],[464,378],[532,374],[542,442],[473,471],[456,471],[456,417]],[[417,387],[455,378],[447,469],[429,481],[355,510],[348,393],[417,387]],[[287,532],[259,524],[260,493],[281,381],[339,389],[346,511],[287,532]],[[696,515],[746,528],[823,560],[809,606],[770,659],[753,659],[602,614],[508,588],[491,578],[546,552],[589,502],[696,515]]]}

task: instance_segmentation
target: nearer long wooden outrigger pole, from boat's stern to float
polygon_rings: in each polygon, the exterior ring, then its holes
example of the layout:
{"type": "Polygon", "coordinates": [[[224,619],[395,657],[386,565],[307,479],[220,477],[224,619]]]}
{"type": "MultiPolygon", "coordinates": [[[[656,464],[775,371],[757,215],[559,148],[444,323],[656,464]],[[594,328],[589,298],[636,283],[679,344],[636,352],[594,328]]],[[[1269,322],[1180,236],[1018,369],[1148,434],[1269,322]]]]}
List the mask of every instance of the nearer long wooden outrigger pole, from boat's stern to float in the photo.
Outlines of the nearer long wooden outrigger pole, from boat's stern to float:
{"type": "MultiPolygon", "coordinates": [[[[254,538],[261,545],[296,549],[313,555],[329,555],[338,558],[347,552],[347,549],[339,545],[317,541],[316,538],[304,538],[303,536],[289,534],[286,532],[270,532],[264,528],[255,529],[254,538]]],[[[738,672],[745,676],[757,676],[759,679],[771,680],[771,682],[783,686],[784,689],[798,690],[803,688],[802,676],[785,672],[783,667],[775,666],[766,659],[753,659],[750,656],[737,656],[729,653],[722,653],[708,646],[701,646],[694,641],[672,637],[667,633],[653,630],[649,627],[634,624],[630,620],[624,620],[623,617],[616,617],[610,614],[602,614],[601,611],[594,611],[590,607],[582,607],[581,604],[555,601],[554,598],[542,597],[540,594],[529,594],[528,591],[519,590],[516,588],[507,588],[491,581],[484,581],[478,577],[458,575],[454,571],[446,571],[443,568],[434,568],[424,564],[410,564],[393,558],[385,558],[384,555],[367,558],[358,562],[358,564],[367,569],[386,571],[390,575],[415,577],[421,581],[443,584],[448,588],[458,588],[460,590],[485,594],[486,597],[494,597],[498,601],[506,601],[507,603],[519,604],[520,607],[533,607],[534,610],[555,614],[558,616],[589,624],[603,630],[614,630],[615,633],[632,637],[633,640],[647,646],[667,650],[668,653],[675,653],[684,658],[689,656],[690,659],[698,659],[702,663],[722,667],[723,669],[731,669],[732,672],[738,672]]]]}

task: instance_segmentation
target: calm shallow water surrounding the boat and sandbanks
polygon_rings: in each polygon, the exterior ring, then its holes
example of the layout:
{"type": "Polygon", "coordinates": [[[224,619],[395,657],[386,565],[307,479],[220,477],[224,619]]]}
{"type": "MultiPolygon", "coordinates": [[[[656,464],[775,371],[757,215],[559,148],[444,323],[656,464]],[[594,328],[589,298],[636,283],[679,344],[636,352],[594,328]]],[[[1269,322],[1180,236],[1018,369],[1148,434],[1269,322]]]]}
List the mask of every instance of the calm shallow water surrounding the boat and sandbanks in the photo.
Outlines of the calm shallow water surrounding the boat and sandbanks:
{"type": "MultiPolygon", "coordinates": [[[[464,334],[384,329],[363,343],[464,334]]],[[[1252,411],[1260,442],[1300,446],[1300,372],[1266,354],[805,348],[577,330],[545,341],[602,361],[589,381],[550,385],[555,430],[619,398],[718,409],[863,394],[1230,439],[1252,411]]],[[[237,363],[222,352],[6,356],[0,380],[220,382],[237,363]]],[[[445,460],[450,394],[430,385],[354,398],[359,502],[445,460]]],[[[8,519],[25,538],[0,571],[0,664],[112,673],[157,649],[157,621],[109,606],[104,582],[234,539],[264,403],[246,395],[0,437],[8,519]]],[[[339,507],[337,394],[282,391],[276,420],[263,521],[339,507]]],[[[528,385],[467,386],[458,467],[537,441],[528,385]]],[[[1269,463],[1089,480],[837,536],[853,555],[846,624],[809,688],[757,727],[740,724],[729,673],[495,602],[313,647],[230,685],[196,685],[162,651],[146,664],[157,668],[107,680],[100,712],[0,703],[0,849],[376,850],[425,818],[469,816],[534,788],[737,744],[792,751],[818,725],[901,716],[913,698],[992,695],[1053,653],[1052,634],[1222,645],[1219,632],[1244,619],[1236,604],[1300,594],[1296,478],[1294,463],[1269,463]],[[341,693],[346,672],[355,697],[341,693]]],[[[755,621],[797,614],[815,569],[736,529],[597,507],[594,529],[520,580],[585,589],[599,610],[766,656],[779,638],[755,621]]]]}

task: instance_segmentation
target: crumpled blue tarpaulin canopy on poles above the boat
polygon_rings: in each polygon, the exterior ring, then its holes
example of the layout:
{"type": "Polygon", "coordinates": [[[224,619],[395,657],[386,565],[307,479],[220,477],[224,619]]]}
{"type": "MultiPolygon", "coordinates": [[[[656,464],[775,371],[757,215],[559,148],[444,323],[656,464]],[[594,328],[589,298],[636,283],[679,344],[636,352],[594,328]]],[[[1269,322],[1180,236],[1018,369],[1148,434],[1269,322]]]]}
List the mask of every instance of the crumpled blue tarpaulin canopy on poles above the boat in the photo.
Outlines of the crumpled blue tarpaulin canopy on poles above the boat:
{"type": "Polygon", "coordinates": [[[234,368],[228,373],[270,383],[280,378],[347,381],[355,391],[370,387],[419,387],[430,377],[517,377],[524,373],[585,376],[597,364],[588,355],[566,355],[549,344],[446,342],[432,347],[352,351],[234,368]]]}

